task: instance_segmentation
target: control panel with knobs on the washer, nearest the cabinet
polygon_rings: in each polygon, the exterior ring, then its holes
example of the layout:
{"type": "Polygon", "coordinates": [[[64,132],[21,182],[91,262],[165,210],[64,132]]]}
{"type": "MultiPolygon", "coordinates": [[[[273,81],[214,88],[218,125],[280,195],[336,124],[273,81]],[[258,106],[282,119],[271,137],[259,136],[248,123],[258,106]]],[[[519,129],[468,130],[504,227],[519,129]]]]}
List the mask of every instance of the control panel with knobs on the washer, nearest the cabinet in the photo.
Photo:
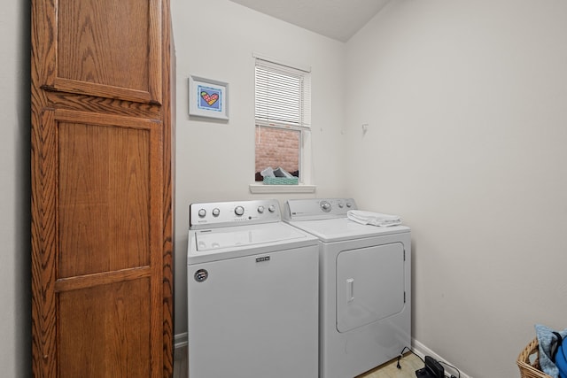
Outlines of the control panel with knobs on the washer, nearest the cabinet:
{"type": "Polygon", "coordinates": [[[219,228],[282,220],[276,199],[190,204],[189,228],[219,228]]]}

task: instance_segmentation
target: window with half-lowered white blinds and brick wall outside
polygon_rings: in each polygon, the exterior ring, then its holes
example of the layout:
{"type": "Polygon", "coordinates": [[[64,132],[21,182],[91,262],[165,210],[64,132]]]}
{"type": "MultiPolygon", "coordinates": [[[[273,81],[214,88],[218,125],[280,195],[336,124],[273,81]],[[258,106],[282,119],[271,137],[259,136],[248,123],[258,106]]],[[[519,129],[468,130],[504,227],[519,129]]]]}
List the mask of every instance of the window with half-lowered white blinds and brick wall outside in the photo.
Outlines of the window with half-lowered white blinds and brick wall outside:
{"type": "Polygon", "coordinates": [[[310,69],[255,58],[255,180],[264,169],[281,167],[309,183],[310,69]]]}

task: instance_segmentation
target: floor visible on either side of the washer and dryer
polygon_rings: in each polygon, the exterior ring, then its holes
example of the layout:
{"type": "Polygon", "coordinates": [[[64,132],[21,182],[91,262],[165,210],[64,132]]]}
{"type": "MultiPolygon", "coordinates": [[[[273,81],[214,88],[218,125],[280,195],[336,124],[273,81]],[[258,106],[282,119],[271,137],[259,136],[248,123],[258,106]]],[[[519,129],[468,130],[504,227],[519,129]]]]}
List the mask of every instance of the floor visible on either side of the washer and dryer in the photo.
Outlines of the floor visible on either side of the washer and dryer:
{"type": "MultiPolygon", "coordinates": [[[[407,353],[400,360],[400,369],[397,364],[398,360],[393,359],[355,378],[416,378],[416,370],[423,367],[423,361],[412,353],[407,353]]],[[[175,348],[174,378],[187,378],[188,375],[187,346],[175,348]]]]}

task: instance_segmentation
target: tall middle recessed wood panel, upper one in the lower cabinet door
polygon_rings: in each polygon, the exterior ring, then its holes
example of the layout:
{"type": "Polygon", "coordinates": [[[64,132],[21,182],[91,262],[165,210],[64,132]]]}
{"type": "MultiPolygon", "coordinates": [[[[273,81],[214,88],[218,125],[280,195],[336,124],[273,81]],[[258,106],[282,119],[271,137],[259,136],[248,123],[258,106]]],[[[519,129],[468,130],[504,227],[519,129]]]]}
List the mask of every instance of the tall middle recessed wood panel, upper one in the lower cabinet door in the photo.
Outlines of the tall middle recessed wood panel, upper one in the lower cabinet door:
{"type": "Polygon", "coordinates": [[[58,277],[150,264],[150,130],[58,123],[58,277]]]}

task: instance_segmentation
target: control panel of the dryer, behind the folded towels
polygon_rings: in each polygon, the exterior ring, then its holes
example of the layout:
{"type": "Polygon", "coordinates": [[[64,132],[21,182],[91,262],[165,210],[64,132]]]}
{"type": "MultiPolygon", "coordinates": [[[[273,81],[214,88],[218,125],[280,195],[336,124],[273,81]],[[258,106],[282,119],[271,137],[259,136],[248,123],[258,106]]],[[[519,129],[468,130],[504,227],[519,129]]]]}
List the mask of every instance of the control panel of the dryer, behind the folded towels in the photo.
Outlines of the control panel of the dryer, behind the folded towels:
{"type": "Polygon", "coordinates": [[[353,198],[290,199],[285,203],[285,220],[326,220],[346,218],[346,212],[357,210],[353,198]]]}

